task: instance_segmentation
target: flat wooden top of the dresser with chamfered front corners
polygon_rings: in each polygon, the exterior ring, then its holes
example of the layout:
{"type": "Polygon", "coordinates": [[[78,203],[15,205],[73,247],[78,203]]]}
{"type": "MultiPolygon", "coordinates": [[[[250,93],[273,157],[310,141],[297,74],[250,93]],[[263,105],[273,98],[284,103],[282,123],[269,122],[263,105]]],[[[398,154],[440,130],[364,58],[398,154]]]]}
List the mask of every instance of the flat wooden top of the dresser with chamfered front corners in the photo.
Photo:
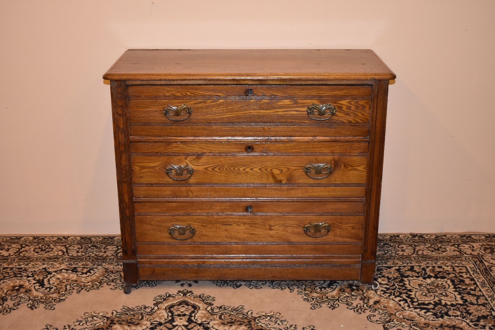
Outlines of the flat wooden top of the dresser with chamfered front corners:
{"type": "Polygon", "coordinates": [[[371,50],[128,50],[110,80],[395,79],[371,50]]]}

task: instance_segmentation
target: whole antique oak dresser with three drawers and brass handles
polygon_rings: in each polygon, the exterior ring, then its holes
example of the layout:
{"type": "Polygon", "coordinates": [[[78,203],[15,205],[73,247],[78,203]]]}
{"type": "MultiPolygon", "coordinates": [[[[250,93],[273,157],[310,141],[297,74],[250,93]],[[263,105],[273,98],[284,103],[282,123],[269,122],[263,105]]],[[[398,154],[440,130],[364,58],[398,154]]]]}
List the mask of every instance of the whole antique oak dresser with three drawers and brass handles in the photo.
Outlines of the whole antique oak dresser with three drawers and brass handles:
{"type": "Polygon", "coordinates": [[[110,80],[125,288],[374,280],[389,80],[370,50],[129,50],[110,80]]]}

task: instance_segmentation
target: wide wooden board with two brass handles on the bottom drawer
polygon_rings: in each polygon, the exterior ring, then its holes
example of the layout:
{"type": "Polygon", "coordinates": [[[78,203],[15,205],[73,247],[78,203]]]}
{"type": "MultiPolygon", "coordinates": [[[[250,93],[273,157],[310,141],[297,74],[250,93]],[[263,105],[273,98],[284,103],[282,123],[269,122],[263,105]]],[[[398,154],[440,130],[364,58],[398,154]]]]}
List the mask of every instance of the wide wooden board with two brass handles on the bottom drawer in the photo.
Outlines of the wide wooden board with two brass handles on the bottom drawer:
{"type": "Polygon", "coordinates": [[[137,242],[317,243],[361,242],[364,219],[326,215],[136,215],[135,223],[137,242]]]}

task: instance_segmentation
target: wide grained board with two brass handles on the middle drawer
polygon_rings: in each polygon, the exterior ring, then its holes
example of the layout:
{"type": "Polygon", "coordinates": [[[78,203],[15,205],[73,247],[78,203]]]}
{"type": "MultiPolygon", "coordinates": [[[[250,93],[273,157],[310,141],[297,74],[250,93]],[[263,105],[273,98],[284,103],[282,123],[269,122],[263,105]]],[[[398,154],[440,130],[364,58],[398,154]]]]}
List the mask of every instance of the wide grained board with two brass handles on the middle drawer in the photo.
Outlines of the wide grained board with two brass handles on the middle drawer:
{"type": "Polygon", "coordinates": [[[133,183],[366,183],[365,156],[134,155],[133,183]],[[168,173],[168,174],[167,174],[168,173]]]}

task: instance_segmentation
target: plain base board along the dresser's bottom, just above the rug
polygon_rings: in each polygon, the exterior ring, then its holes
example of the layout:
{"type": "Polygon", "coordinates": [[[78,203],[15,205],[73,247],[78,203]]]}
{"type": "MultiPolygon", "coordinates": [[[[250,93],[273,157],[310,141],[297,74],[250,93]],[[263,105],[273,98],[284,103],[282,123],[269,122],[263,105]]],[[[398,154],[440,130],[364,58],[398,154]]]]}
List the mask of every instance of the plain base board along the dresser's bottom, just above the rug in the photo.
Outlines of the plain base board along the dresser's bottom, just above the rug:
{"type": "Polygon", "coordinates": [[[140,265],[139,278],[148,280],[358,280],[359,267],[321,267],[308,265],[299,267],[259,266],[148,266],[140,265]]]}

